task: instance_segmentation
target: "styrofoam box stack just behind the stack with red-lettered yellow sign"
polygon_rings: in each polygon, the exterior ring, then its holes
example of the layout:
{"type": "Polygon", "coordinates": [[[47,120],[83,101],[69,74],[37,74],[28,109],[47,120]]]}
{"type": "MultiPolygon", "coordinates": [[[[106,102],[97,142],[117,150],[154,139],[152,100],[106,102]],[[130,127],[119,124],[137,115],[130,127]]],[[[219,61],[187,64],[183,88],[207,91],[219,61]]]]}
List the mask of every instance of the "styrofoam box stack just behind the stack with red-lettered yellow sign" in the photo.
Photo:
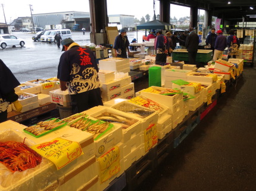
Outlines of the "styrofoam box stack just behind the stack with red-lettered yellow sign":
{"type": "MultiPolygon", "coordinates": [[[[162,87],[154,87],[154,90],[166,91],[167,88],[162,87]]],[[[173,96],[164,96],[161,94],[149,93],[147,90],[142,90],[141,95],[150,98],[157,103],[161,103],[169,108],[168,114],[171,115],[171,124],[172,128],[176,128],[176,126],[182,122],[185,117],[184,104],[183,104],[183,93],[174,94],[173,96]]]]}

